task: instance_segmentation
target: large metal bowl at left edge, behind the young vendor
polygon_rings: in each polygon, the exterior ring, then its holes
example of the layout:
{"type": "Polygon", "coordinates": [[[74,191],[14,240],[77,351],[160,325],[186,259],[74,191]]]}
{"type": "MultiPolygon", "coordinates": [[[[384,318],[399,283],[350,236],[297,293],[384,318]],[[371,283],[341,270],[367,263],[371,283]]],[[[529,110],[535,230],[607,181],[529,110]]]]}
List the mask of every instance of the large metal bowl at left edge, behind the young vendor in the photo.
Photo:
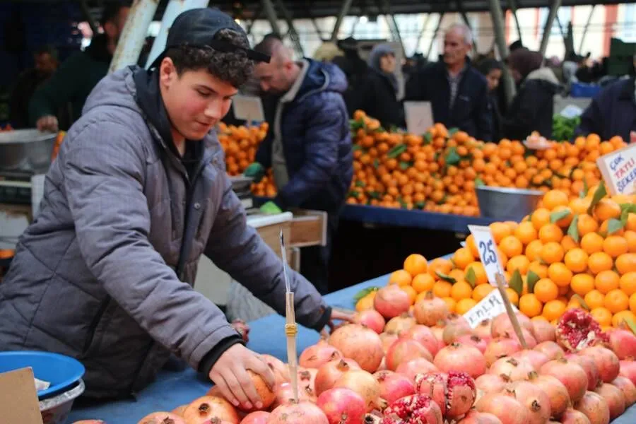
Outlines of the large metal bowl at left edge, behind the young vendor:
{"type": "Polygon", "coordinates": [[[0,132],[0,170],[20,169],[46,172],[57,133],[37,129],[16,129],[0,132]]]}

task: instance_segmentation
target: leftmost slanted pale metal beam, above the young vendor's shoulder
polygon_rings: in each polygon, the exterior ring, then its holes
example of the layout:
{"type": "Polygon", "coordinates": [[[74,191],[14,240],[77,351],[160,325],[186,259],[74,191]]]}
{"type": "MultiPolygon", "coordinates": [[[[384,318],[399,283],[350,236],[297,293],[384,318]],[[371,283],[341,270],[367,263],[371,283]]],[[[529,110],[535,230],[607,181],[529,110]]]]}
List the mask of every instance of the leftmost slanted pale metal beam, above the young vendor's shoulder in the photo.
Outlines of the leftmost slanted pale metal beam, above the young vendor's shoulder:
{"type": "Polygon", "coordinates": [[[122,35],[112,55],[109,73],[137,64],[143,43],[146,42],[148,26],[153,21],[157,6],[159,6],[159,0],[133,1],[122,35]]]}

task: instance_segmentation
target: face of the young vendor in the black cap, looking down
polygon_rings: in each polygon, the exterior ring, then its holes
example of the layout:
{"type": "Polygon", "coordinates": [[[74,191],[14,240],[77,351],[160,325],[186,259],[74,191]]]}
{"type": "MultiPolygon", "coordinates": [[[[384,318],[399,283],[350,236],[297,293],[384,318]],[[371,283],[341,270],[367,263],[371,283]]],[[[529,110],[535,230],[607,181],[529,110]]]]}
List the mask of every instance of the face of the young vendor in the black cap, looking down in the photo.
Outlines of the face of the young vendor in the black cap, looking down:
{"type": "Polygon", "coordinates": [[[230,110],[237,89],[206,69],[179,76],[171,59],[160,68],[163,103],[172,127],[187,140],[201,140],[230,110]]]}

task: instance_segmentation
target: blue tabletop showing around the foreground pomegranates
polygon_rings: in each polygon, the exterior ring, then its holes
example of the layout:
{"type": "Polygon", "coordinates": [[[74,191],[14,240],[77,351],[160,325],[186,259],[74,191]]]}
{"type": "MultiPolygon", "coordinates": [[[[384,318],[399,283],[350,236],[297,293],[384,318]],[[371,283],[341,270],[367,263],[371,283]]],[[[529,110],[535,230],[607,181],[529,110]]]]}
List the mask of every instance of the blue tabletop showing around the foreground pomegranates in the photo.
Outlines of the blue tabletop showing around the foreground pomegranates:
{"type": "MultiPolygon", "coordinates": [[[[389,276],[374,278],[349,288],[338,290],[325,296],[329,305],[353,309],[353,296],[363,288],[387,285],[389,276]]],[[[250,322],[248,347],[259,353],[269,353],[285,360],[287,358],[285,319],[279,315],[270,315],[250,322]]],[[[298,331],[298,353],[318,341],[316,331],[300,326],[298,331]]],[[[136,401],[115,401],[97,406],[79,406],[73,408],[68,423],[77,420],[100,419],[108,424],[136,424],[141,418],[154,411],[171,411],[177,406],[189,404],[199,396],[206,394],[211,383],[192,369],[180,372],[162,371],[156,381],[141,391],[136,401]]],[[[613,424],[636,423],[636,405],[614,420],[613,424]]]]}

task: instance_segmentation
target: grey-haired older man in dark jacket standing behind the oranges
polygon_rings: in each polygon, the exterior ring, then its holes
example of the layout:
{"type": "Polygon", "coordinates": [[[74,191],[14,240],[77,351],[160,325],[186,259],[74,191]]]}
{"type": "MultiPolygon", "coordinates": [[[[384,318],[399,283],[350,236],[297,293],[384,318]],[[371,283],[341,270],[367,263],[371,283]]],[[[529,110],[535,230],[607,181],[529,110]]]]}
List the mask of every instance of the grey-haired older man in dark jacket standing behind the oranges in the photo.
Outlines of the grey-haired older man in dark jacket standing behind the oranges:
{"type": "Polygon", "coordinates": [[[472,46],[471,30],[453,25],[444,35],[443,61],[411,76],[404,100],[431,102],[435,122],[492,141],[488,84],[468,57],[472,46]]]}

